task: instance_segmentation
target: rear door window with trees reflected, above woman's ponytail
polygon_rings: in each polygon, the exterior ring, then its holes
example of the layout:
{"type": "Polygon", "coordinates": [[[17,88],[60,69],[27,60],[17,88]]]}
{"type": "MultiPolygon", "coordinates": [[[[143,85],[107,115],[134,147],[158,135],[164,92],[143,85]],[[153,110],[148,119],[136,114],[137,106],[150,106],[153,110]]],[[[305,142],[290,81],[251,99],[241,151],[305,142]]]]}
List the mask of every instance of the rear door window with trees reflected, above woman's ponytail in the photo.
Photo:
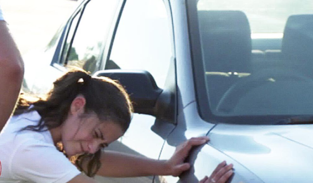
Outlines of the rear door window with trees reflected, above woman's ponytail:
{"type": "Polygon", "coordinates": [[[64,66],[77,66],[91,73],[99,68],[100,50],[105,46],[118,3],[119,0],[92,0],[86,4],[77,30],[75,23],[70,27],[66,44],[72,44],[66,49],[64,66]]]}

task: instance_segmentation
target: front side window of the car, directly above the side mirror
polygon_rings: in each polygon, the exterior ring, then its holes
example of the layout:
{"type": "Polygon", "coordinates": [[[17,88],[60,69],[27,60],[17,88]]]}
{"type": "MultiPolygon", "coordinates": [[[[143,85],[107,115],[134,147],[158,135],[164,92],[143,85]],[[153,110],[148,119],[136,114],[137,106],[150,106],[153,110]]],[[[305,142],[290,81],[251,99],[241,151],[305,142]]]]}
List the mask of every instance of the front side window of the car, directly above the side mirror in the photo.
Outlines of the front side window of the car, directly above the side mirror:
{"type": "Polygon", "coordinates": [[[126,1],[105,69],[139,69],[163,87],[172,53],[171,28],[162,0],[126,1]]]}

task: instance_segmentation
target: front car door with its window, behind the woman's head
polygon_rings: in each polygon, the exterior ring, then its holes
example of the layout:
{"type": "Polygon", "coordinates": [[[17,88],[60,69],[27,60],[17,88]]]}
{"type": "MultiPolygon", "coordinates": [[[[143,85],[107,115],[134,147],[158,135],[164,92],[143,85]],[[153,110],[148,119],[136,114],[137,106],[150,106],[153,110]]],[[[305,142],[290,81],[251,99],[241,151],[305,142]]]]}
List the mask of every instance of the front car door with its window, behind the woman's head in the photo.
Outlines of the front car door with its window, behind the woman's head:
{"type": "MultiPolygon", "coordinates": [[[[172,85],[175,92],[174,45],[169,15],[169,7],[162,0],[127,0],[112,47],[104,50],[106,57],[103,58],[105,62],[102,68],[146,70],[154,77],[158,87],[164,89],[164,86],[172,85]]],[[[158,159],[174,121],[134,113],[129,129],[120,139],[121,144],[115,143],[109,147],[158,159]]],[[[152,182],[152,179],[150,176],[111,180],[152,182]]]]}

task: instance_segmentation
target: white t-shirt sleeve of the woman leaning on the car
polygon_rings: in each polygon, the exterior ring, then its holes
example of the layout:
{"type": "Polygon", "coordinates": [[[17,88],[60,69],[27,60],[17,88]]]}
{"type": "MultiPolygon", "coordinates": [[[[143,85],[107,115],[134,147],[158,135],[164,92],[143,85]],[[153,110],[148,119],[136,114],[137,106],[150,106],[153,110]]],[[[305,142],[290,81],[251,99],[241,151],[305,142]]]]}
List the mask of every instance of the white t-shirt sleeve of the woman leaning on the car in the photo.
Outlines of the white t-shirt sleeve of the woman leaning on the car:
{"type": "Polygon", "coordinates": [[[11,173],[30,182],[64,183],[81,172],[53,144],[28,140],[12,156],[11,173]]]}

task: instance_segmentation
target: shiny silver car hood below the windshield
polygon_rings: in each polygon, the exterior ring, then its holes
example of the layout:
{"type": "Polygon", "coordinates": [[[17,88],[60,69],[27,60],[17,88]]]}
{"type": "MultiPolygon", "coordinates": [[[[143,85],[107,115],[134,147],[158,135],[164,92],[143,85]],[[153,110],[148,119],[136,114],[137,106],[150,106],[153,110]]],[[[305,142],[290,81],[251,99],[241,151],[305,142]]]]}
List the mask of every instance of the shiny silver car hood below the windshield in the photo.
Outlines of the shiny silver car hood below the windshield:
{"type": "Polygon", "coordinates": [[[313,169],[312,133],[312,125],[218,124],[209,133],[209,144],[264,182],[312,182],[307,176],[313,169]]]}

